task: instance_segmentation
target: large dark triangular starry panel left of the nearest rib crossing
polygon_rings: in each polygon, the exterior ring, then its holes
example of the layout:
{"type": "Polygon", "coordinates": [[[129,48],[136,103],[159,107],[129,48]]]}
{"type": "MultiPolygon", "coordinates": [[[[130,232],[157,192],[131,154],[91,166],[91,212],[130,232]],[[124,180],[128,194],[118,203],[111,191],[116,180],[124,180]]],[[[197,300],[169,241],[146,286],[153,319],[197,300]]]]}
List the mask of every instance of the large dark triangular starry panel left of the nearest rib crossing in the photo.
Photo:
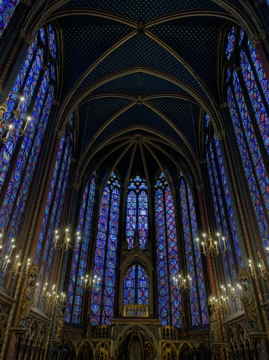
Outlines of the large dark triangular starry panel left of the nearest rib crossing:
{"type": "Polygon", "coordinates": [[[67,16],[60,21],[64,33],[64,91],[67,94],[87,67],[132,28],[113,20],[86,15],[67,16]]]}

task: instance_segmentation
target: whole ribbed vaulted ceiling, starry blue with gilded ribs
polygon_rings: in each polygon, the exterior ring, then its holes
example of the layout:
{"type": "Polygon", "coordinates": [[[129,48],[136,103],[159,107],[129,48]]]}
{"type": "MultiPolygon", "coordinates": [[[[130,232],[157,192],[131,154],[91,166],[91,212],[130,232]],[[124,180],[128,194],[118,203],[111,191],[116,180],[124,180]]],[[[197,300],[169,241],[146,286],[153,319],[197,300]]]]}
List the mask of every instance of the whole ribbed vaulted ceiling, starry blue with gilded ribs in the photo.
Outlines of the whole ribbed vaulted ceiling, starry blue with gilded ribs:
{"type": "Polygon", "coordinates": [[[171,163],[199,183],[203,116],[220,117],[223,34],[238,23],[240,1],[55,4],[48,19],[57,20],[64,49],[60,114],[76,113],[77,176],[117,163],[124,177],[142,141],[149,172],[171,163]]]}

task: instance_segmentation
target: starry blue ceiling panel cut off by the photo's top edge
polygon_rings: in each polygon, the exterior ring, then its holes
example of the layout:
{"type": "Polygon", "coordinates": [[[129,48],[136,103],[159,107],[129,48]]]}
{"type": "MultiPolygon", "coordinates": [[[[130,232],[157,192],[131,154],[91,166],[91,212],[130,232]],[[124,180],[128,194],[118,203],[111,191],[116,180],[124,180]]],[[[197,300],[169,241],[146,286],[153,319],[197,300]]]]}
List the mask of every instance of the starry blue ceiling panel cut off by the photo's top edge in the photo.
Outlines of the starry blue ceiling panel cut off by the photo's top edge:
{"type": "Polygon", "coordinates": [[[185,9],[199,7],[221,9],[212,0],[71,0],[59,10],[74,7],[92,7],[106,10],[138,22],[185,9]]]}

